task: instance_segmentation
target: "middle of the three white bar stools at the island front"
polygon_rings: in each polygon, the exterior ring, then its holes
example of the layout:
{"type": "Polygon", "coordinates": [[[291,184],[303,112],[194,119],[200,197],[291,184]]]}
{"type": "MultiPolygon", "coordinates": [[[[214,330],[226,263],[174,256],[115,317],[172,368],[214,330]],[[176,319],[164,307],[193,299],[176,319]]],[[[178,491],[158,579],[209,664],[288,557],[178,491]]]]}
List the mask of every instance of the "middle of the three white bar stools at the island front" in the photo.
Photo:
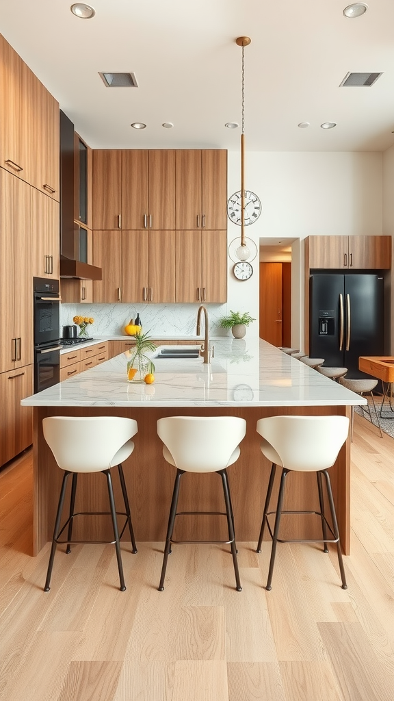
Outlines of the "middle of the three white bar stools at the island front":
{"type": "Polygon", "coordinates": [[[245,418],[237,416],[166,416],[157,422],[158,436],[164,443],[165,460],[177,468],[174,491],[168,519],[167,536],[161,569],[159,592],[164,590],[165,570],[172,543],[226,543],[231,545],[236,589],[242,591],[237,562],[236,538],[234,534],[233,508],[226,468],[238,460],[239,444],[246,433],[245,418]],[[180,479],[184,472],[217,472],[222,477],[225,512],[183,511],[177,513],[180,479]],[[175,518],[178,515],[210,514],[227,517],[229,540],[172,540],[175,518]]]}

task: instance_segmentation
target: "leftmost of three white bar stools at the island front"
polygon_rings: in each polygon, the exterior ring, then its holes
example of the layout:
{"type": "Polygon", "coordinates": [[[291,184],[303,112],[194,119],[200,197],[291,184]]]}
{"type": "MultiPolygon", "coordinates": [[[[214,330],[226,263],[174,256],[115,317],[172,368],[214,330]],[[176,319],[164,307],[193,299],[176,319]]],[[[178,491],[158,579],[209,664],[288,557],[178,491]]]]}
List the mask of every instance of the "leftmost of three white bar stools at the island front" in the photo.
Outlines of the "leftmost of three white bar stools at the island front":
{"type": "Polygon", "coordinates": [[[123,577],[123,566],[121,559],[120,539],[123,536],[126,526],[130,530],[133,552],[137,552],[133,525],[131,523],[130,505],[125,486],[122,463],[134,450],[134,443],[131,440],[137,433],[137,421],[133,418],[123,418],[122,416],[48,416],[43,418],[43,436],[48,443],[57,465],[64,470],[62,489],[60,490],[59,504],[55,529],[53,531],[52,547],[48,563],[48,572],[44,591],[50,590],[50,577],[52,575],[53,560],[57,543],[67,543],[67,554],[71,552],[70,545],[76,543],[114,543],[116,548],[116,559],[118,562],[119,580],[121,592],[125,591],[125,580],[123,577]],[[118,465],[119,479],[125,503],[125,512],[116,512],[114,501],[114,490],[112,489],[111,468],[118,465]],[[109,512],[79,512],[74,513],[76,483],[79,472],[103,472],[107,477],[109,512]],[[72,474],[72,491],[70,498],[69,518],[60,528],[64,497],[66,495],[69,475],[72,474]],[[72,540],[72,526],[74,518],[79,515],[111,515],[114,528],[114,540],[86,541],[72,540]],[[121,533],[118,532],[116,514],[126,517],[121,533]],[[67,540],[59,540],[62,532],[68,525],[67,540]]]}

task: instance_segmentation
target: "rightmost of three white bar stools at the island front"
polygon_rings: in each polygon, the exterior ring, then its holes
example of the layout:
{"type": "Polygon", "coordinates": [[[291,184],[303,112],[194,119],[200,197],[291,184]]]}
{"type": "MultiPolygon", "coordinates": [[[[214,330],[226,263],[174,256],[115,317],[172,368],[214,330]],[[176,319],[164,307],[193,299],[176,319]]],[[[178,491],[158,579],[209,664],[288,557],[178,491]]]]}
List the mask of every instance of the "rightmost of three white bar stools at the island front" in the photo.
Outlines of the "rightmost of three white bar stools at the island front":
{"type": "Polygon", "coordinates": [[[272,463],[269,486],[264,504],[263,519],[261,522],[259,543],[257,552],[261,552],[261,542],[264,536],[264,527],[267,524],[272,538],[271,560],[269,563],[269,575],[266,590],[271,590],[273,565],[276,555],[276,544],[279,543],[324,543],[324,552],[328,552],[327,543],[337,543],[339,570],[341,571],[342,589],[347,589],[344,563],[342,560],[341,544],[339,543],[339,530],[337,515],[335,513],[334,499],[328,468],[334,465],[341,447],[348,436],[349,420],[347,416],[269,416],[257,421],[257,433],[263,437],[261,452],[272,463]],[[276,512],[269,511],[269,503],[276,466],[282,468],[280,489],[276,512]],[[316,472],[318,482],[318,494],[320,511],[283,511],[283,498],[285,496],[285,482],[289,472],[316,472]],[[328,501],[332,517],[332,528],[325,517],[324,496],[322,491],[322,475],[325,476],[328,501]],[[273,532],[269,524],[269,515],[276,513],[273,532]],[[280,517],[282,514],[315,514],[320,516],[322,522],[322,540],[280,540],[278,538],[280,517]],[[334,536],[327,540],[327,528],[334,536]]]}

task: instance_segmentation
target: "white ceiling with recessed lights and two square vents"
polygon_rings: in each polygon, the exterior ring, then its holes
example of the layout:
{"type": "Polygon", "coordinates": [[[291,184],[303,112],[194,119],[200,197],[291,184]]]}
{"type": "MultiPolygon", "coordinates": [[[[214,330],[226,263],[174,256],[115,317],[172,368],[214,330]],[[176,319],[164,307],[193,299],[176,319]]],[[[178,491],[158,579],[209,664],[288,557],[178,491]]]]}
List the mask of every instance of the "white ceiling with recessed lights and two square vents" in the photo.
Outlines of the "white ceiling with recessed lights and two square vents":
{"type": "Polygon", "coordinates": [[[93,148],[238,150],[240,128],[224,123],[241,120],[235,39],[247,35],[247,150],[384,151],[394,144],[394,0],[369,0],[352,20],[350,1],[91,0],[95,17],[80,20],[71,0],[0,0],[0,32],[93,148]],[[139,87],[105,88],[99,71],[135,72],[139,87]],[[349,71],[383,76],[339,88],[349,71]]]}

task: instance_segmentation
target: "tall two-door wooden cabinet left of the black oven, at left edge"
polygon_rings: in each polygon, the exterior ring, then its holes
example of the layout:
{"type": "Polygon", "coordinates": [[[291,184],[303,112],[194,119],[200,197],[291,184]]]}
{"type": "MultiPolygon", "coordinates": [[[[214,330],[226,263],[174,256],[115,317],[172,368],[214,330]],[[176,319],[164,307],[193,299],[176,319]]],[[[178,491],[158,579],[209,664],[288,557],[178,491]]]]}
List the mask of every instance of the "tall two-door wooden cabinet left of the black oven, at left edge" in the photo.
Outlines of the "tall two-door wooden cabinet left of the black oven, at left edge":
{"type": "Polygon", "coordinates": [[[0,168],[0,372],[33,362],[32,192],[0,168]]]}

